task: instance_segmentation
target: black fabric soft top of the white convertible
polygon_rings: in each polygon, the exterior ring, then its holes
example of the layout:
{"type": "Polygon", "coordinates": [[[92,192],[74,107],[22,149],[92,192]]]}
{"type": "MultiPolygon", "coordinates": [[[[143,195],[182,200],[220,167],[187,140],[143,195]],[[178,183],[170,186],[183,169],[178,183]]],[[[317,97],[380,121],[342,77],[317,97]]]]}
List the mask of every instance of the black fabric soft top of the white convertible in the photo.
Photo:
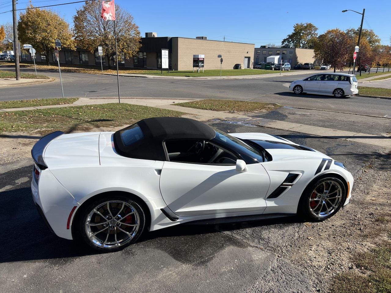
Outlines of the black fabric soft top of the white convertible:
{"type": "Polygon", "coordinates": [[[123,156],[135,159],[165,161],[163,142],[169,139],[213,139],[216,133],[212,127],[189,118],[155,117],[138,121],[114,133],[115,150],[123,156]],[[136,130],[140,127],[142,133],[136,130]],[[123,141],[127,132],[131,134],[132,143],[123,141]],[[137,133],[136,133],[137,132],[137,133]]]}

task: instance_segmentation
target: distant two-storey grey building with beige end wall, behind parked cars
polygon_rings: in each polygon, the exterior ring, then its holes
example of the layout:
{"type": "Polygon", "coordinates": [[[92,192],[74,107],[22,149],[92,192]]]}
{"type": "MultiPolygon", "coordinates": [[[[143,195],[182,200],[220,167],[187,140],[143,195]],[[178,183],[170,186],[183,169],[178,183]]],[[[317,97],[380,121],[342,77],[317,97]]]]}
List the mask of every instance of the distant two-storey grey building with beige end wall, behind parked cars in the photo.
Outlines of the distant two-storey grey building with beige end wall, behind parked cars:
{"type": "Polygon", "coordinates": [[[266,62],[266,58],[273,55],[282,55],[282,62],[288,62],[292,66],[297,63],[312,63],[321,65],[321,61],[314,59],[314,50],[301,48],[255,48],[254,64],[266,62]]]}

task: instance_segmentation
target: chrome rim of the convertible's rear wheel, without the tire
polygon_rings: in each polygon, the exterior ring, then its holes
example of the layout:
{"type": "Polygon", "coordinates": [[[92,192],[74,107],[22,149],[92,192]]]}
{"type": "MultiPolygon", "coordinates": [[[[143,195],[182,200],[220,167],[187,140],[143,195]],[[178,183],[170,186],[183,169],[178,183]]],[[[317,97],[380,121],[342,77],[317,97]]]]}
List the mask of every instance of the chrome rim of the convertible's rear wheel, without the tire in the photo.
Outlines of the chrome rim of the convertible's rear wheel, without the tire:
{"type": "Polygon", "coordinates": [[[87,237],[100,248],[125,245],[137,234],[139,226],[140,216],[135,207],[120,200],[97,205],[84,223],[87,237]]]}

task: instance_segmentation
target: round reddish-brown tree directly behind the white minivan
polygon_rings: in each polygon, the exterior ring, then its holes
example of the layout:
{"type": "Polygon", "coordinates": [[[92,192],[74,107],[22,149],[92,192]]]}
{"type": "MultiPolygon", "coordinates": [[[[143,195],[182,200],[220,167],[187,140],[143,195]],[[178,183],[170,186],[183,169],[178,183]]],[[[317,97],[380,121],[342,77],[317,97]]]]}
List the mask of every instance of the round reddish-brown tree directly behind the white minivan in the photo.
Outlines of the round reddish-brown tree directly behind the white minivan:
{"type": "Polygon", "coordinates": [[[351,39],[340,29],[327,30],[318,37],[314,46],[314,58],[331,64],[334,72],[336,69],[343,70],[352,52],[351,39]]]}

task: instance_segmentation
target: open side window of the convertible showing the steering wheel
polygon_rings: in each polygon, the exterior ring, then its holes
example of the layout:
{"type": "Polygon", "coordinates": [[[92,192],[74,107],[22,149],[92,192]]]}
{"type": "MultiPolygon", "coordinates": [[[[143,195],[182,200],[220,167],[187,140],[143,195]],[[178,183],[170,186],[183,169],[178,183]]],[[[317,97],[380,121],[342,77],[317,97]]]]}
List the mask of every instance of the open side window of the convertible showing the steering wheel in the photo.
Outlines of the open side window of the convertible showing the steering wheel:
{"type": "Polygon", "coordinates": [[[235,165],[237,157],[210,141],[184,139],[165,141],[171,162],[235,165]]]}

